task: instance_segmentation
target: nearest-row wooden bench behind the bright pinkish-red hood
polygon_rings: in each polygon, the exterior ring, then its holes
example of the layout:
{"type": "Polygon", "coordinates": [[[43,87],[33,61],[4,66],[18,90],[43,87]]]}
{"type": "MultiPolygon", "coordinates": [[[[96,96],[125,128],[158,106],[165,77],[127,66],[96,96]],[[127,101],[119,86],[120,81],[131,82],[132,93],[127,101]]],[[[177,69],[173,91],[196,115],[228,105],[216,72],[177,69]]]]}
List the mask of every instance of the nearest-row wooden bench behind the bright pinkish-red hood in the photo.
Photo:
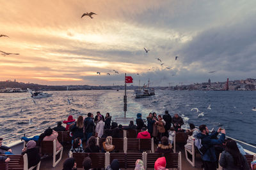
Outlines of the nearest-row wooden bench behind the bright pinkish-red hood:
{"type": "Polygon", "coordinates": [[[181,152],[179,153],[145,153],[144,164],[147,168],[154,168],[155,162],[159,157],[166,158],[166,168],[176,168],[181,170],[181,152]]]}

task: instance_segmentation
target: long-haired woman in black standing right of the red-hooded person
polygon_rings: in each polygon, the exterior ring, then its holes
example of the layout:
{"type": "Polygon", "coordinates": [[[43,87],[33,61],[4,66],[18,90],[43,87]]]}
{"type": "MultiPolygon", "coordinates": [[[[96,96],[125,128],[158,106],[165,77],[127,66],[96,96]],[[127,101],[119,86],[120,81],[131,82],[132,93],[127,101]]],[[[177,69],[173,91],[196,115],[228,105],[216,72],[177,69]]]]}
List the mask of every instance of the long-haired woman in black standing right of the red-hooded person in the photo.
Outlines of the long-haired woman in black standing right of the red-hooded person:
{"type": "Polygon", "coordinates": [[[73,134],[72,140],[76,138],[80,138],[83,141],[84,138],[84,122],[83,122],[83,117],[79,116],[77,118],[76,123],[72,126],[71,132],[73,134]]]}

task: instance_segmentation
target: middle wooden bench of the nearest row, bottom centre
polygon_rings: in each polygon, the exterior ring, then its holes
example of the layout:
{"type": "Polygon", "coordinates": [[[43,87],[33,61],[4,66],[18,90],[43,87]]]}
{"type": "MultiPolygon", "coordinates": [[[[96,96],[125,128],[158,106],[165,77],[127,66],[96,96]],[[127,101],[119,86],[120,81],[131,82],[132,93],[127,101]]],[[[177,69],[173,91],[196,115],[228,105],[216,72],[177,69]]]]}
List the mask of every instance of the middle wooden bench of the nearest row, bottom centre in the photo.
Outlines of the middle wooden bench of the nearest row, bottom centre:
{"type": "Polygon", "coordinates": [[[118,159],[119,168],[134,169],[136,160],[143,160],[143,153],[109,153],[108,165],[110,165],[114,159],[118,159]]]}

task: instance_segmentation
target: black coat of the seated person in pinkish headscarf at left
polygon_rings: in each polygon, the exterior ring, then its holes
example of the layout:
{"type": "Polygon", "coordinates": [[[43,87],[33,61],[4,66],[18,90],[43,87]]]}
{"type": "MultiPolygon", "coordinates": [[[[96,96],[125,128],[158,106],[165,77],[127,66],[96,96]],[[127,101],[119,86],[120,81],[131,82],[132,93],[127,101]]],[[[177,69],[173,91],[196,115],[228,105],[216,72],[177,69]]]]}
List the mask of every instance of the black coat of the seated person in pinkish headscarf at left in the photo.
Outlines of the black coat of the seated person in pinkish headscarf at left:
{"type": "Polygon", "coordinates": [[[41,157],[39,155],[39,148],[31,148],[29,150],[26,150],[25,152],[22,152],[21,155],[24,155],[27,153],[28,155],[28,168],[32,166],[36,166],[41,160],[41,157]]]}

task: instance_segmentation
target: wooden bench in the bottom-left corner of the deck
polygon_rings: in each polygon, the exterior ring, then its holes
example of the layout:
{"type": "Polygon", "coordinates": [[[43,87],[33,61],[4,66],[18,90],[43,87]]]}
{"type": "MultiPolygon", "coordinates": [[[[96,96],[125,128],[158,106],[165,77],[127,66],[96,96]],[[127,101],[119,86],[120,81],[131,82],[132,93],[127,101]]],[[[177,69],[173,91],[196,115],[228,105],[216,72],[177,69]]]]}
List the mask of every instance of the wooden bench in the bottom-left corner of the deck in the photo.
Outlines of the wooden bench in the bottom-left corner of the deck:
{"type": "Polygon", "coordinates": [[[40,169],[41,161],[33,167],[28,168],[28,155],[5,155],[10,158],[9,162],[0,162],[1,170],[32,170],[36,167],[36,170],[40,169]]]}

